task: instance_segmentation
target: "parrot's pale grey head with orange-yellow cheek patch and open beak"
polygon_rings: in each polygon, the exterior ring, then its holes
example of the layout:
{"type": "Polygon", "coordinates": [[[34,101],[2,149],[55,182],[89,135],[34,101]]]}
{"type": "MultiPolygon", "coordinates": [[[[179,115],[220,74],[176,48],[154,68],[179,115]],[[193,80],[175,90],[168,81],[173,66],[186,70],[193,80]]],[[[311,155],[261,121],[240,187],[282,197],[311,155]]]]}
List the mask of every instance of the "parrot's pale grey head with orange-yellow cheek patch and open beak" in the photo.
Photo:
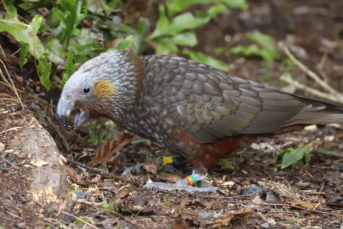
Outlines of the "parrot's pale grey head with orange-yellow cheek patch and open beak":
{"type": "Polygon", "coordinates": [[[74,128],[92,117],[115,119],[130,110],[141,91],[142,62],[127,50],[113,50],[85,62],[64,85],[56,115],[69,131],[68,117],[78,110],[74,128]]]}

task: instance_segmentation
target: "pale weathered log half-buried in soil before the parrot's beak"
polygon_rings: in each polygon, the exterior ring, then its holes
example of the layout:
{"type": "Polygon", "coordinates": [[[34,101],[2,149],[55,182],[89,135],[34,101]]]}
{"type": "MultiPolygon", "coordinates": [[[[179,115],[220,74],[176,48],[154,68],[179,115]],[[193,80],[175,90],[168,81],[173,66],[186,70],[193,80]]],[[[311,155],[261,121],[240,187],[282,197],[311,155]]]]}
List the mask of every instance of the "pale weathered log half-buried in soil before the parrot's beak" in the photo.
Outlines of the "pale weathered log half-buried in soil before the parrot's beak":
{"type": "Polygon", "coordinates": [[[32,178],[28,193],[36,201],[59,203],[67,194],[67,177],[54,139],[32,117],[31,126],[19,130],[10,146],[30,158],[27,167],[28,176],[32,178]],[[21,150],[20,150],[21,149],[21,150]]]}

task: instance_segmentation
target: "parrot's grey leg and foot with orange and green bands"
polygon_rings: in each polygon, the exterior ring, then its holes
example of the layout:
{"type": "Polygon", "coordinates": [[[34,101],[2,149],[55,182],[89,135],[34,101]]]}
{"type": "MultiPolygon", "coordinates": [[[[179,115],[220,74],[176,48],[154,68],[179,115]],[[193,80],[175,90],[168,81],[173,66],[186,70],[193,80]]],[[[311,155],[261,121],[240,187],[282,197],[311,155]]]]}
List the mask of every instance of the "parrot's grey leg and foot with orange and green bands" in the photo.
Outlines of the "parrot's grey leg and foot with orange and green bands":
{"type": "Polygon", "coordinates": [[[186,176],[185,179],[178,181],[174,184],[163,183],[163,182],[154,182],[144,185],[142,188],[157,188],[159,190],[185,190],[187,192],[216,192],[219,190],[218,187],[194,187],[192,185],[196,184],[199,181],[202,181],[207,176],[206,168],[197,168],[197,171],[194,169],[192,174],[186,176]]]}

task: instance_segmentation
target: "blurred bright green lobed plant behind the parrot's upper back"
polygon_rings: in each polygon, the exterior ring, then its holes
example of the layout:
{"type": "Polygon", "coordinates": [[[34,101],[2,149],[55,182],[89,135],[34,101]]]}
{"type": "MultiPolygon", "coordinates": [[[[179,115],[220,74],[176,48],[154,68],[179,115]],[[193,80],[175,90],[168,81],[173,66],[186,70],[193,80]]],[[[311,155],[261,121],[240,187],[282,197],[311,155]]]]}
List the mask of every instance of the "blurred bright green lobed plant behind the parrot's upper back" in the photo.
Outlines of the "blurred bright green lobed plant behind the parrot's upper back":
{"type": "Polygon", "coordinates": [[[155,54],[177,53],[188,56],[195,61],[212,65],[223,71],[228,71],[229,68],[224,62],[201,52],[186,48],[180,50],[178,46],[194,47],[198,45],[196,33],[192,30],[208,23],[217,14],[227,12],[229,7],[246,9],[247,6],[245,0],[169,0],[166,2],[166,7],[159,5],[159,17],[155,30],[145,38],[145,41],[152,40],[157,42],[155,54]],[[178,14],[192,5],[209,2],[215,2],[217,4],[209,7],[206,12],[196,11],[194,14],[191,12],[178,14]]]}

